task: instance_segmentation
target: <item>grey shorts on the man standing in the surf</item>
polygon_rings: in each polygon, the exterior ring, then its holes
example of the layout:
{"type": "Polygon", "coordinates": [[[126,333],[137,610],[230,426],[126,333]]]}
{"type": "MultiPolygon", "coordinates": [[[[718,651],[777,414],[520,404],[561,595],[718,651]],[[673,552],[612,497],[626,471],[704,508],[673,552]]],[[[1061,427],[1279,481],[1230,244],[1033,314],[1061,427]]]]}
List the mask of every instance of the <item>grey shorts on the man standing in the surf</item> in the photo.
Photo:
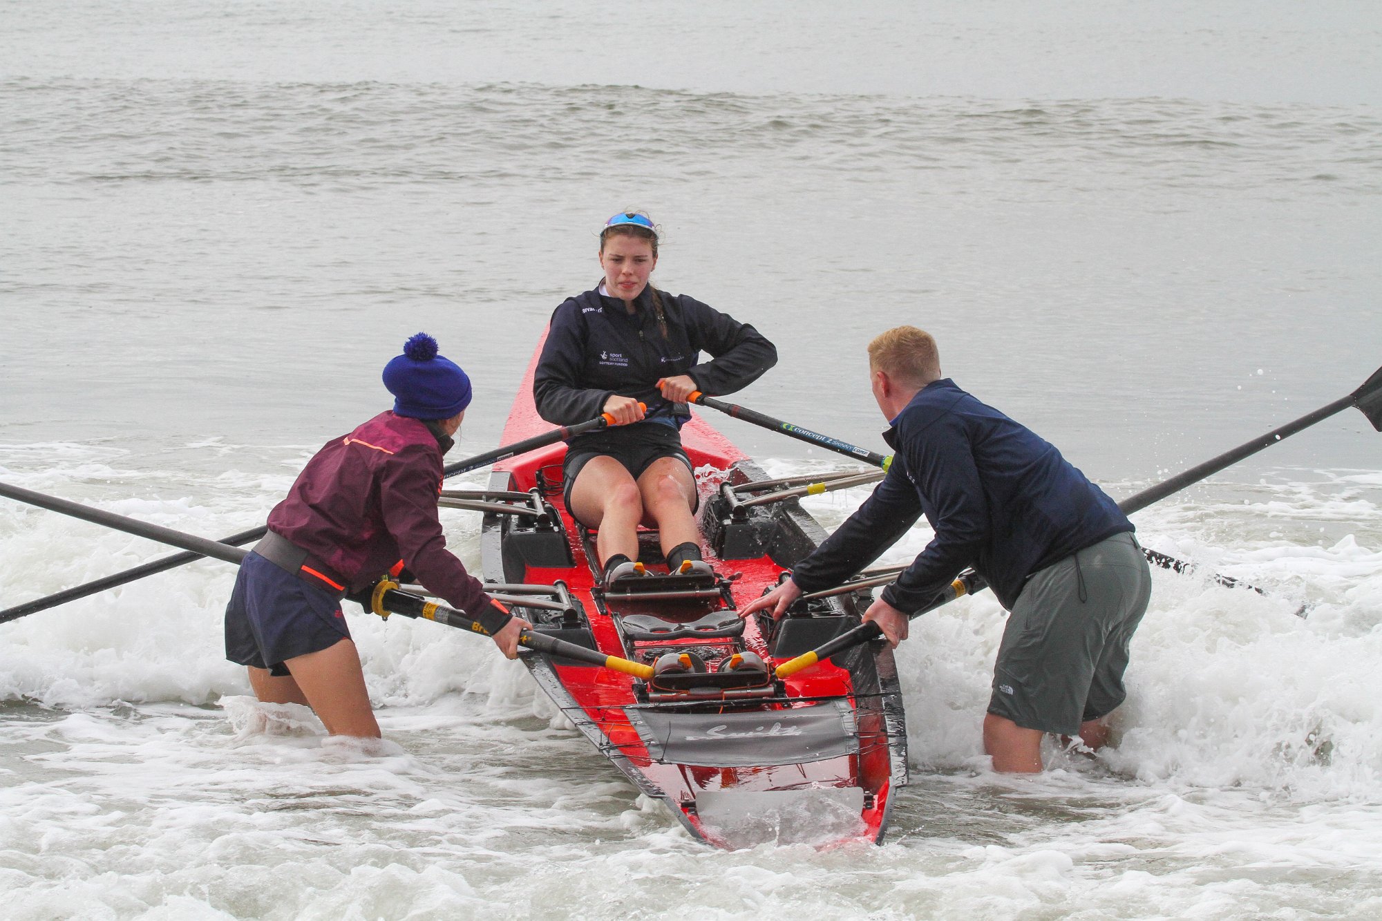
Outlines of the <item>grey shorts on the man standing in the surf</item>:
{"type": "Polygon", "coordinates": [[[1115,534],[1027,579],[1003,631],[988,712],[1074,736],[1124,701],[1128,643],[1151,597],[1132,532],[1115,534]]]}

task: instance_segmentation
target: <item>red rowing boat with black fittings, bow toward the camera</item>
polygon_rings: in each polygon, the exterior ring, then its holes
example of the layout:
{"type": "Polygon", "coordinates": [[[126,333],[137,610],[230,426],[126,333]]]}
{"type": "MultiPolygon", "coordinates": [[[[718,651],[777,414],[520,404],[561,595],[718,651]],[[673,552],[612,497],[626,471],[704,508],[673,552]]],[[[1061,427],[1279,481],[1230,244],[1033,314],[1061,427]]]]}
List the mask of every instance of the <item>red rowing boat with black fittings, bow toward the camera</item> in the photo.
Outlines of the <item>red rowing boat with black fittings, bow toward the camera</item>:
{"type": "MultiPolygon", "coordinates": [[[[535,364],[536,354],[504,444],[551,429],[533,407],[535,364]]],[[[658,671],[640,679],[535,650],[521,658],[586,738],[697,838],[721,848],[879,842],[907,783],[891,651],[871,643],[773,675],[858,625],[867,596],[822,597],[778,624],[741,620],[742,604],[825,538],[792,498],[808,478],[768,480],[701,416],[681,438],[713,578],[666,574],[645,531],[640,559],[655,575],[600,586],[594,534],[562,505],[564,443],[500,462],[488,490],[464,494],[464,508],[485,512],[482,564],[495,595],[521,604],[539,633],[658,671]]]]}

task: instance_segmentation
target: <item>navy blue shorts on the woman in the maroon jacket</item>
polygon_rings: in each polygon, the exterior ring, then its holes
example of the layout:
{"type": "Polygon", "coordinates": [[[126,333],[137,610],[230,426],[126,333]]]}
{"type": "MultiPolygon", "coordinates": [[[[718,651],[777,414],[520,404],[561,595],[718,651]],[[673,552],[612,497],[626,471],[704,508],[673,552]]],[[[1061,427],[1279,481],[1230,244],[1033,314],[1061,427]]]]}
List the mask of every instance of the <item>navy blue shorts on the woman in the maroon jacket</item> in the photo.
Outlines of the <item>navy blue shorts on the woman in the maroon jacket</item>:
{"type": "Polygon", "coordinates": [[[350,639],[341,603],[250,550],[225,606],[225,658],[279,678],[294,655],[350,639]]]}

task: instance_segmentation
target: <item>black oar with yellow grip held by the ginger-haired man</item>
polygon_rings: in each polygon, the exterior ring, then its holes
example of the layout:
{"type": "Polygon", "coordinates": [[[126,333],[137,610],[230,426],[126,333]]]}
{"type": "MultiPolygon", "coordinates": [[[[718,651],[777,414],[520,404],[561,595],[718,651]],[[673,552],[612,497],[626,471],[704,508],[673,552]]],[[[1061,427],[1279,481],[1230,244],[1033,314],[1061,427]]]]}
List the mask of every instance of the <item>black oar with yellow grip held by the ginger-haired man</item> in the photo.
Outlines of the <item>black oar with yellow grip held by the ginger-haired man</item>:
{"type": "MultiPolygon", "coordinates": [[[[1307,412],[1295,422],[1288,422],[1280,429],[1273,429],[1271,431],[1253,438],[1252,441],[1245,441],[1233,451],[1226,451],[1218,458],[1211,458],[1204,463],[1190,467],[1184,473],[1179,473],[1169,480],[1158,483],[1157,485],[1143,490],[1135,495],[1128,496],[1118,503],[1118,508],[1124,514],[1132,514],[1146,509],[1153,502],[1159,502],[1168,495],[1179,492],[1189,485],[1200,483],[1201,480],[1219,473],[1224,467],[1229,467],[1247,456],[1258,454],[1265,448],[1270,448],[1282,438],[1288,438],[1295,433],[1309,429],[1317,422],[1323,422],[1332,415],[1343,412],[1349,407],[1357,407],[1372,427],[1382,431],[1382,368],[1378,368],[1371,378],[1368,378],[1361,387],[1354,390],[1346,397],[1341,397],[1334,402],[1320,407],[1314,412],[1307,412]]],[[[919,617],[927,611],[933,611],[943,604],[949,604],[962,595],[973,595],[974,592],[988,588],[988,582],[984,581],[977,573],[969,571],[963,573],[958,579],[951,582],[949,588],[943,590],[930,604],[919,611],[912,611],[909,617],[919,617]]],[[[860,643],[867,643],[868,640],[880,636],[882,631],[878,624],[869,621],[867,624],[860,624],[851,631],[840,633],[829,643],[811,650],[810,653],[803,653],[796,658],[791,658],[777,667],[775,673],[778,678],[786,678],[788,675],[795,675],[803,668],[810,668],[822,658],[835,655],[851,646],[858,646],[860,643]]]]}

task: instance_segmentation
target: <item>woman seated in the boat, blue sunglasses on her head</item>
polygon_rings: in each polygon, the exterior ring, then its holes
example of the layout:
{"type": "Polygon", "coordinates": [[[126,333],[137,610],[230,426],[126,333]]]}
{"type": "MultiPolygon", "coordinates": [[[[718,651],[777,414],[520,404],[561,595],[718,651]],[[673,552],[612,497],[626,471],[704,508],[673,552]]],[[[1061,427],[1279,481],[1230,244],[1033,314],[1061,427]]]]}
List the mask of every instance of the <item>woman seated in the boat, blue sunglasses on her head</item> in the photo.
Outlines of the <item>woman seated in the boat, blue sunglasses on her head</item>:
{"type": "Polygon", "coordinates": [[[547,422],[574,425],[603,412],[615,419],[616,427],[572,438],[562,465],[567,509],[598,528],[605,585],[641,571],[640,523],[658,528],[669,573],[709,571],[694,517],[695,477],[681,449],[685,400],[697,390],[734,393],[777,364],[777,348],[753,326],[654,288],[656,264],[652,220],[637,212],[611,217],[600,232],[604,278],[553,313],[532,379],[547,422]],[[699,364],[702,350],[713,361],[699,364]]]}

